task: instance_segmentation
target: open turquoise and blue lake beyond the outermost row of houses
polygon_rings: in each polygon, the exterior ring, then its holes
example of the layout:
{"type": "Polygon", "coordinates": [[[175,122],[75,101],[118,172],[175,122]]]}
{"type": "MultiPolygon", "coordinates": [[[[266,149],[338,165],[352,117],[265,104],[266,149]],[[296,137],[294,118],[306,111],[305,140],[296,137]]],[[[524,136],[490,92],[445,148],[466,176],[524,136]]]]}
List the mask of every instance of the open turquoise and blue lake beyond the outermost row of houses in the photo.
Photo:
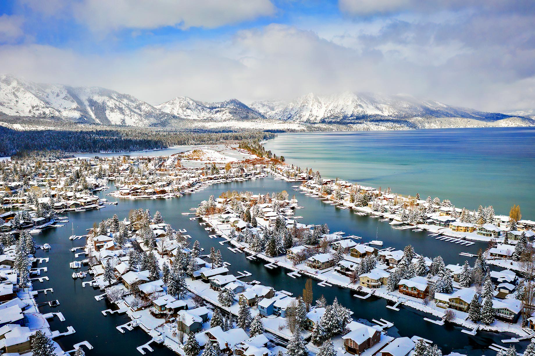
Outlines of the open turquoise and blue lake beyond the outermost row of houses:
{"type": "Polygon", "coordinates": [[[325,177],[496,214],[519,204],[534,220],[534,138],[529,127],[342,131],[279,134],[265,147],[325,177]]]}

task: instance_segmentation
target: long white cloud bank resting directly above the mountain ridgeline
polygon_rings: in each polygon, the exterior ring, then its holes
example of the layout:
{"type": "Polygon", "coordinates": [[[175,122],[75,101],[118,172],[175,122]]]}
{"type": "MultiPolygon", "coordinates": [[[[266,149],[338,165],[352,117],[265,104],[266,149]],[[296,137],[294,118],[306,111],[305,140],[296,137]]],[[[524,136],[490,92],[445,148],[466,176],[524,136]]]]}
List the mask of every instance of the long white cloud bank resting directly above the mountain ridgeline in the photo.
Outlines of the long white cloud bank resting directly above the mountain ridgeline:
{"type": "MultiPolygon", "coordinates": [[[[127,53],[80,55],[45,45],[0,46],[2,72],[28,80],[101,86],[151,104],[186,95],[200,100],[282,97],[345,90],[407,93],[486,111],[535,107],[535,59],[526,24],[494,42],[488,28],[459,24],[385,23],[346,34],[343,45],[313,31],[269,25],[242,30],[225,42],[151,46],[127,53]],[[464,33],[465,28],[459,29],[464,33]],[[485,42],[485,41],[486,42],[485,42]],[[524,42],[522,42],[524,41],[524,42]],[[472,43],[473,42],[473,43],[472,43]]],[[[528,25],[529,26],[529,25],[528,25]]],[[[495,31],[503,32],[500,28],[495,31]]]]}

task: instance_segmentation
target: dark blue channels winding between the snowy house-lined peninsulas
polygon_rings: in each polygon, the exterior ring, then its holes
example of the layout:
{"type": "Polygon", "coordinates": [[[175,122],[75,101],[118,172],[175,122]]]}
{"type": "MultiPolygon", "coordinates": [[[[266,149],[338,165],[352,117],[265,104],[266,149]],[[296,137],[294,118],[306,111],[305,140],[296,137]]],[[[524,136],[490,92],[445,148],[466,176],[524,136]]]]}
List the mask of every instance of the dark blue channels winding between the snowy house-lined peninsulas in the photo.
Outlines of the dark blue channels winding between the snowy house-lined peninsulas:
{"type": "MultiPolygon", "coordinates": [[[[100,222],[102,219],[108,219],[114,213],[119,215],[119,219],[128,216],[129,211],[134,208],[142,207],[149,209],[153,214],[160,211],[166,222],[171,223],[175,229],[185,228],[194,239],[198,239],[204,249],[209,250],[210,246],[221,250],[225,261],[231,262],[231,272],[238,270],[248,270],[253,273],[249,280],[258,280],[266,285],[271,285],[280,290],[284,289],[300,295],[304,288],[307,278],[291,278],[286,275],[288,272],[282,268],[275,270],[266,269],[263,262],[251,262],[243,254],[235,254],[226,249],[226,246],[218,244],[217,239],[210,239],[207,231],[198,225],[196,221],[190,221],[189,216],[181,215],[182,212],[188,212],[190,207],[211,194],[218,196],[226,190],[253,191],[256,194],[266,191],[276,192],[287,190],[292,195],[292,183],[280,180],[262,179],[248,182],[233,182],[219,185],[212,185],[204,191],[197,192],[193,195],[186,195],[178,199],[158,199],[158,200],[126,200],[121,199],[118,205],[106,206],[98,211],[87,211],[81,213],[71,213],[71,221],[63,228],[55,228],[45,231],[43,234],[36,236],[38,244],[48,242],[52,245],[50,252],[37,252],[37,256],[50,256],[48,264],[50,276],[49,282],[37,283],[35,289],[52,287],[53,295],[44,296],[40,294],[37,301],[59,299],[61,305],[55,308],[55,311],[61,311],[67,319],[65,322],[52,321],[52,329],[64,331],[67,326],[72,325],[77,332],[73,335],[57,339],[65,350],[70,350],[72,345],[82,340],[88,340],[95,346],[94,350],[87,352],[88,355],[131,355],[137,354],[136,346],[140,346],[149,340],[149,337],[143,331],[135,329],[120,334],[116,326],[128,321],[126,316],[108,315],[104,317],[100,311],[108,309],[104,300],[96,301],[95,295],[101,294],[90,287],[82,288],[80,280],[73,281],[71,278],[72,270],[68,268],[68,262],[74,260],[74,254],[70,251],[73,246],[81,246],[83,240],[71,241],[68,236],[71,235],[71,222],[74,223],[75,233],[77,235],[85,234],[85,230],[91,228],[94,222],[100,222]]],[[[297,194],[297,193],[296,193],[297,194]]],[[[385,246],[394,246],[402,248],[407,244],[416,246],[416,251],[424,253],[429,257],[441,254],[447,263],[464,262],[464,258],[458,256],[458,252],[468,250],[475,252],[484,244],[475,244],[470,247],[462,247],[455,244],[435,241],[425,233],[410,233],[408,231],[395,230],[388,226],[387,223],[378,222],[376,219],[365,218],[352,214],[349,211],[340,211],[333,206],[320,203],[318,200],[298,195],[297,199],[300,205],[305,208],[299,210],[299,214],[304,217],[305,223],[327,223],[332,231],[342,230],[348,234],[362,236],[364,241],[375,239],[376,229],[379,231],[379,238],[385,242],[385,246]],[[462,249],[462,250],[461,250],[462,249]]],[[[79,258],[81,259],[81,258],[79,258]]],[[[473,262],[473,261],[470,261],[473,262]]],[[[86,278],[88,280],[88,278],[86,278]]],[[[440,327],[435,324],[423,321],[423,316],[416,315],[413,311],[401,309],[399,312],[385,308],[386,301],[383,299],[370,298],[361,300],[351,296],[351,292],[338,287],[322,288],[313,282],[315,299],[322,294],[328,301],[337,297],[341,304],[349,307],[353,312],[355,319],[380,319],[384,318],[391,321],[395,326],[388,330],[392,336],[413,336],[418,335],[437,343],[444,353],[457,351],[472,355],[481,355],[482,353],[494,355],[495,352],[488,350],[487,346],[492,343],[499,343],[499,340],[506,337],[505,334],[492,334],[488,332],[478,332],[476,336],[470,336],[460,331],[460,328],[445,326],[440,327]]],[[[43,307],[43,312],[48,312],[49,307],[43,307]]],[[[525,345],[524,345],[525,347],[525,345]]],[[[171,355],[171,351],[161,348],[157,349],[158,355],[171,355]]]]}

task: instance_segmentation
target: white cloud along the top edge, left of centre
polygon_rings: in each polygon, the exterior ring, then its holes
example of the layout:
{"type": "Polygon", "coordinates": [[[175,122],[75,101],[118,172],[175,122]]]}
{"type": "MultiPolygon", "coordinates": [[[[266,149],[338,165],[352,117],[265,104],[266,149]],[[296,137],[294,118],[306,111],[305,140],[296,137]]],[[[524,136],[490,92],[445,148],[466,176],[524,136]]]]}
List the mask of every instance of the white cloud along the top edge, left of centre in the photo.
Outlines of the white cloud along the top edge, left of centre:
{"type": "Polygon", "coordinates": [[[166,26],[217,28],[272,16],[276,11],[270,0],[53,0],[53,6],[36,0],[19,1],[45,16],[72,16],[99,33],[166,26]]]}

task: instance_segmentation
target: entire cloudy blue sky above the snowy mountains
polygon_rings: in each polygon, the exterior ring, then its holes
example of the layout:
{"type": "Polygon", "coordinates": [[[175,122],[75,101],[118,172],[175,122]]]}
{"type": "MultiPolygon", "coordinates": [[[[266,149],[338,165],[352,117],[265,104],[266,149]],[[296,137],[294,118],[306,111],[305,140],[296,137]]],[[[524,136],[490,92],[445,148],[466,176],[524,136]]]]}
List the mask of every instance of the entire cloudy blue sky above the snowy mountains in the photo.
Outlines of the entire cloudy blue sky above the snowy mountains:
{"type": "Polygon", "coordinates": [[[4,0],[0,68],[158,104],[315,92],[535,109],[535,5],[501,0],[4,0]]]}

